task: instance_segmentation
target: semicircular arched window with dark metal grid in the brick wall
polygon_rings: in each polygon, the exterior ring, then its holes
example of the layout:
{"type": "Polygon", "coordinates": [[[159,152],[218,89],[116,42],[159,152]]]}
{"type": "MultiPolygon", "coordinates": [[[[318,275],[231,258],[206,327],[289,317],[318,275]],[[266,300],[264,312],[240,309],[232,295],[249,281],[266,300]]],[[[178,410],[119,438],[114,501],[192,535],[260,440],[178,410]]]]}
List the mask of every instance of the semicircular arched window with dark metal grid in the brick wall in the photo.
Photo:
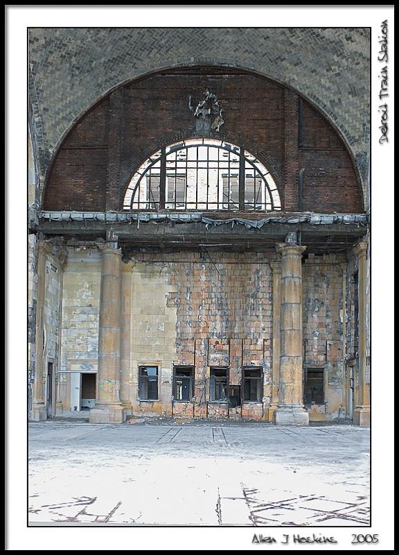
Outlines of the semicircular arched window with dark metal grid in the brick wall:
{"type": "Polygon", "coordinates": [[[127,187],[123,210],[281,210],[276,184],[244,148],[186,139],[145,160],[127,187]]]}

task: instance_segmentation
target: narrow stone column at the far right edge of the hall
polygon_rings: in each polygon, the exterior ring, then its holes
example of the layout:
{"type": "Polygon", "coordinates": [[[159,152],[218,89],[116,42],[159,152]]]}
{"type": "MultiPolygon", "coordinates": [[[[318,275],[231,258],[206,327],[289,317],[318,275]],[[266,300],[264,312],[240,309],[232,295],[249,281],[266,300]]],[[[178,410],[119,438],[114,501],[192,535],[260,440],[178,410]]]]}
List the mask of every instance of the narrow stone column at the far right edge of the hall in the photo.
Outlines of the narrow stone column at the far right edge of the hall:
{"type": "Polygon", "coordinates": [[[353,422],[359,426],[370,425],[370,391],[366,383],[366,253],[367,243],[358,243],[355,248],[357,255],[358,298],[359,298],[359,390],[358,404],[353,411],[353,422]]]}

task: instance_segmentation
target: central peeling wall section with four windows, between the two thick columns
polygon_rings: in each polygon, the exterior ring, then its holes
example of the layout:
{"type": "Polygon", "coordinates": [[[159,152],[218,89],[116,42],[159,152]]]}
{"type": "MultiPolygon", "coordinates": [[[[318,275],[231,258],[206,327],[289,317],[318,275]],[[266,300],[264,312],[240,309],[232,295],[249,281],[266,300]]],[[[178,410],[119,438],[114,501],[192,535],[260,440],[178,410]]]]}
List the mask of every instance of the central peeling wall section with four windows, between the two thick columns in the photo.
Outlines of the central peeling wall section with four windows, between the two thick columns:
{"type": "MultiPolygon", "coordinates": [[[[208,404],[209,366],[230,367],[240,384],[242,366],[263,368],[271,395],[272,273],[267,255],[213,253],[136,255],[132,266],[131,389],[133,412],[219,418],[208,404]],[[161,368],[159,403],[136,402],[138,367],[161,368]],[[195,405],[174,402],[172,367],[195,366],[195,405]]],[[[263,417],[263,403],[243,405],[244,418],[263,417]]],[[[233,411],[234,412],[234,411],[233,411]]]]}

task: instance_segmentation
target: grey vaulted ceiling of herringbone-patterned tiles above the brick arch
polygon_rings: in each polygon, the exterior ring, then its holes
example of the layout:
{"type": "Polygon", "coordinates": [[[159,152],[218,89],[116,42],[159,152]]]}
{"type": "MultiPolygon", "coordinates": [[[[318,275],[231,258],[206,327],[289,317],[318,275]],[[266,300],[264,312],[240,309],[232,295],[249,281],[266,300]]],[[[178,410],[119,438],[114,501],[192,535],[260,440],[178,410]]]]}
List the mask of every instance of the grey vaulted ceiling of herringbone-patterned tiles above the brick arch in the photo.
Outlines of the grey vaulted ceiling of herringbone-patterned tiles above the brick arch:
{"type": "Polygon", "coordinates": [[[369,29],[30,29],[30,122],[43,182],[53,153],[79,117],[110,89],[182,65],[250,69],[296,89],[332,120],[366,189],[369,29]]]}

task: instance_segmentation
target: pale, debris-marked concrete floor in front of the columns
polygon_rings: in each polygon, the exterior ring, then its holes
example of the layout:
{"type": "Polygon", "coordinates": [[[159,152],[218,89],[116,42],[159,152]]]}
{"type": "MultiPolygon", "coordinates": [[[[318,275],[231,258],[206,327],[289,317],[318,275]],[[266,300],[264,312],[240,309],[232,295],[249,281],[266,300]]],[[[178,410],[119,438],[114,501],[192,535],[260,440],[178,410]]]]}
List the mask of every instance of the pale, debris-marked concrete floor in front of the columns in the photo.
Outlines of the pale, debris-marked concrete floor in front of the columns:
{"type": "Polygon", "coordinates": [[[366,526],[369,430],[30,424],[31,524],[366,526]]]}

